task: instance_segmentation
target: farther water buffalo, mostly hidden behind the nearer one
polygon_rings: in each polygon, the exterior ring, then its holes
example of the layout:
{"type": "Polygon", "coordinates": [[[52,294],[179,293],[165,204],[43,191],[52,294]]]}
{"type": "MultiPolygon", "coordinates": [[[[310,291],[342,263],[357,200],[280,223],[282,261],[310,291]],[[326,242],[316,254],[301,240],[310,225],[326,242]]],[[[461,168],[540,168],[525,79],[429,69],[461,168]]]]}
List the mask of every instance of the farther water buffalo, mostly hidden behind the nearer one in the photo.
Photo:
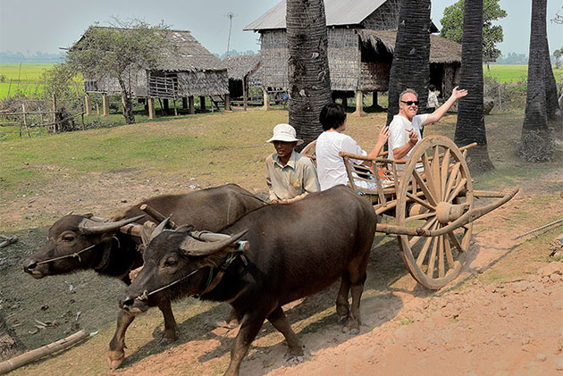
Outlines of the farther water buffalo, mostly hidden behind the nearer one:
{"type": "MultiPolygon", "coordinates": [[[[113,218],[112,222],[92,221],[90,215],[65,215],[48,231],[46,244],[23,262],[23,269],[34,278],[93,269],[96,272],[130,284],[130,272],[143,264],[138,250],[140,238],[123,234],[119,229],[128,218],[139,214],[140,205],[150,205],[157,212],[171,215],[178,225],[189,224],[196,229],[221,230],[245,213],[263,206],[263,202],[235,184],[202,189],[184,195],[155,196],[130,206],[113,218]]],[[[151,220],[139,219],[138,223],[151,220]]],[[[152,221],[155,221],[152,219],[152,221]]],[[[164,315],[164,334],[167,344],[177,338],[177,325],[170,301],[162,299],[158,307],[164,315]]],[[[134,316],[120,311],[117,329],[110,343],[108,363],[118,367],[123,360],[125,331],[134,316]]]]}

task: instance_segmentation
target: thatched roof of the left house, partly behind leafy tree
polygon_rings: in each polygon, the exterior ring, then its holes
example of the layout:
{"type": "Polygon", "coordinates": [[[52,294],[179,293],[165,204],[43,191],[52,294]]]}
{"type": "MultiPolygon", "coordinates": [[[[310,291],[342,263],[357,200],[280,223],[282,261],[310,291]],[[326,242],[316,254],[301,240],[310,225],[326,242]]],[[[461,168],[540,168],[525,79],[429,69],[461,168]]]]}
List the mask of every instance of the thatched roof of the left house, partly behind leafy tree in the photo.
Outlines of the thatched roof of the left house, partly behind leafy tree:
{"type": "MultiPolygon", "coordinates": [[[[92,26],[72,48],[78,46],[83,39],[88,38],[90,29],[114,29],[120,32],[130,30],[92,26]]],[[[163,32],[167,41],[176,47],[164,52],[163,59],[156,67],[157,71],[223,71],[226,69],[221,59],[207,51],[206,47],[201,46],[188,30],[165,30],[163,32]]]]}

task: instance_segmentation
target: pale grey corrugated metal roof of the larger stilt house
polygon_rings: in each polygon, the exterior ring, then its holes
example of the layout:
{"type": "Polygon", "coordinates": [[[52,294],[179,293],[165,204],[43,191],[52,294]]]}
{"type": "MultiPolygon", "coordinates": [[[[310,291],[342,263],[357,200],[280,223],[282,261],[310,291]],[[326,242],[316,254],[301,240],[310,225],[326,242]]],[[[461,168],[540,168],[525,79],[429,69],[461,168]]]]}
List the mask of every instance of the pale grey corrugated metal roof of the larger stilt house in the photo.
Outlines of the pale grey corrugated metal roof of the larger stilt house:
{"type": "MultiPolygon", "coordinates": [[[[324,0],[326,26],[357,25],[386,0],[324,0]]],[[[285,29],[286,1],[282,0],[245,30],[285,29]]]]}

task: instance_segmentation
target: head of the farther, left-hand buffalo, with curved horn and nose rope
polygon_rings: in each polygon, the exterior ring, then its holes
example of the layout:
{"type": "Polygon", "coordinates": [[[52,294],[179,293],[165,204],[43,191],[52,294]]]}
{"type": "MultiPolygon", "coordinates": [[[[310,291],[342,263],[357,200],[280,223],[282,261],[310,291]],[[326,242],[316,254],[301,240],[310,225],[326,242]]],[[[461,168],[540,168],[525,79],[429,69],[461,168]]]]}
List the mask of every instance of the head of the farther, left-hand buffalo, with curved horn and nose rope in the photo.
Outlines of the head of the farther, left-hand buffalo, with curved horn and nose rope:
{"type": "Polygon", "coordinates": [[[94,221],[91,214],[65,215],[47,232],[46,244],[23,261],[24,272],[40,279],[96,268],[115,231],[142,216],[122,221],[94,221]]]}

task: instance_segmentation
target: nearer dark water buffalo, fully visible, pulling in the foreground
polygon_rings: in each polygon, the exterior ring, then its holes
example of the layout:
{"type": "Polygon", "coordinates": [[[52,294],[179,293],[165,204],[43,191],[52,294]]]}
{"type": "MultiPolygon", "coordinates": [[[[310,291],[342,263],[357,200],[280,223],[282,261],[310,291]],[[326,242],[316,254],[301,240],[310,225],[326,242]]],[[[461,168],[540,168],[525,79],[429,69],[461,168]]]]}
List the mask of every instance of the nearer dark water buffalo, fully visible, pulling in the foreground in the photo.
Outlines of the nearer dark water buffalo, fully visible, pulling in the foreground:
{"type": "Polygon", "coordinates": [[[230,303],[241,326],[226,374],[236,375],[265,319],[286,338],[290,355],[302,355],[301,341],[281,305],[314,294],[339,278],[336,311],[350,330],[359,330],[360,297],[375,223],[374,209],[364,198],[337,186],[290,205],[269,205],[248,213],[221,231],[228,234],[223,240],[216,234],[220,240],[199,241],[205,234],[189,228],[164,230],[154,234],[143,270],[118,300],[132,314],[162,300],[193,295],[230,303]],[[240,247],[247,248],[243,255],[240,247]]]}

